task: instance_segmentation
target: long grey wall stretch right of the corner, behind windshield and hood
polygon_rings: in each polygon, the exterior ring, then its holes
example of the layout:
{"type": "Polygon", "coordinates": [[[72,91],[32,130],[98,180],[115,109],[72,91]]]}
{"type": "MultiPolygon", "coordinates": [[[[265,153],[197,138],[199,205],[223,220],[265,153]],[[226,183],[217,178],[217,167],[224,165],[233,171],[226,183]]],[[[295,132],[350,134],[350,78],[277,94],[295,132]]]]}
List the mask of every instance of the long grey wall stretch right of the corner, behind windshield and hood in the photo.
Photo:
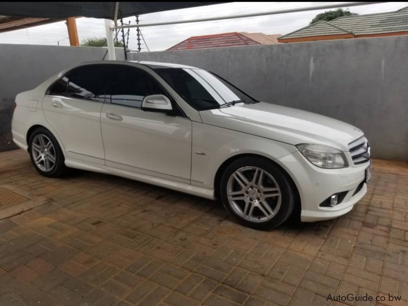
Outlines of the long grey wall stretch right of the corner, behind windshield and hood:
{"type": "Polygon", "coordinates": [[[408,160],[408,36],[132,53],[221,75],[255,98],[362,129],[372,156],[408,160]]]}

